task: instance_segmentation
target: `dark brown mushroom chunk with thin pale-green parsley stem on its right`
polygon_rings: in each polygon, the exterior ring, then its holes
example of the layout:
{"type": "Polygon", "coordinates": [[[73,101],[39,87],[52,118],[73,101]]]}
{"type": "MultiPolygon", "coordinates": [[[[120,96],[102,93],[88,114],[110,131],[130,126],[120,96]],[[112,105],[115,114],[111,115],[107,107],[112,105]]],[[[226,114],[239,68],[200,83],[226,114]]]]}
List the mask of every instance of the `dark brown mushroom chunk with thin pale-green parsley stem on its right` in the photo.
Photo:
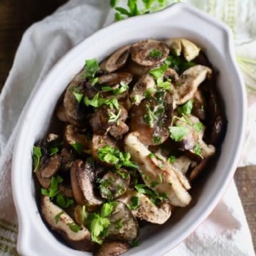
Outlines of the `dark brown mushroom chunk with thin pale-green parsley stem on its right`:
{"type": "Polygon", "coordinates": [[[118,126],[119,122],[123,122],[127,119],[127,110],[119,105],[119,110],[115,107],[111,108],[107,105],[99,107],[90,119],[92,130],[95,134],[104,135],[107,134],[110,127],[113,125],[118,126]]]}

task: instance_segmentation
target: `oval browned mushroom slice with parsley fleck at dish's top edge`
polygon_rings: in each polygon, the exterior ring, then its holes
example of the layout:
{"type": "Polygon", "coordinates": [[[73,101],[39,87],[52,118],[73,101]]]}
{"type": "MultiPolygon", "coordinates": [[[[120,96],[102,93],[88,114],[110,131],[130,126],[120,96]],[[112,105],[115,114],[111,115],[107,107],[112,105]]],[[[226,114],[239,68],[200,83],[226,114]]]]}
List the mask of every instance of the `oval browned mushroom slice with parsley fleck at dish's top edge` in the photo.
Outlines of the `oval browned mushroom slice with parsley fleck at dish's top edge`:
{"type": "Polygon", "coordinates": [[[164,62],[169,48],[160,41],[144,40],[134,43],[131,47],[132,60],[139,65],[153,66],[164,62]]]}

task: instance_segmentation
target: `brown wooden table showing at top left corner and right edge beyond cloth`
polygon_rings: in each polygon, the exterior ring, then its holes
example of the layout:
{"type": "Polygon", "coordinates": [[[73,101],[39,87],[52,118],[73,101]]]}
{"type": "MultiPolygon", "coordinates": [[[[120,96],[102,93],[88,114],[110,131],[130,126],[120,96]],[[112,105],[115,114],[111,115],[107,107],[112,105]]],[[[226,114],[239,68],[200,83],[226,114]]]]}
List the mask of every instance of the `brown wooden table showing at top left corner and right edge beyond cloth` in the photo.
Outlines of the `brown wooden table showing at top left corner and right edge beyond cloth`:
{"type": "MultiPolygon", "coordinates": [[[[67,0],[0,1],[0,90],[11,69],[23,32],[32,23],[51,14],[65,2],[67,0]]],[[[256,249],[256,166],[238,168],[235,173],[235,183],[238,186],[256,249]]]]}

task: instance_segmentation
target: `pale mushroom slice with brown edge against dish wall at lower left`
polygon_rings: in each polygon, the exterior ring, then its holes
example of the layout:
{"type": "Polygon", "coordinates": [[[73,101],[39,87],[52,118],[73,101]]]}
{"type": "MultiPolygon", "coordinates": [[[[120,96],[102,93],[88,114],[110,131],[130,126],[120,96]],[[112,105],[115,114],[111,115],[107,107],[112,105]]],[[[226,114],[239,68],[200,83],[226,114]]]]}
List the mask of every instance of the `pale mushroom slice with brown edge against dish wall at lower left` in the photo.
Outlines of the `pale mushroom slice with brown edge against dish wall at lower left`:
{"type": "Polygon", "coordinates": [[[42,198],[41,212],[50,228],[55,230],[75,250],[92,252],[95,249],[95,243],[91,240],[89,230],[84,226],[79,227],[70,215],[52,203],[48,196],[42,198]],[[73,231],[73,227],[78,230],[73,231]]]}

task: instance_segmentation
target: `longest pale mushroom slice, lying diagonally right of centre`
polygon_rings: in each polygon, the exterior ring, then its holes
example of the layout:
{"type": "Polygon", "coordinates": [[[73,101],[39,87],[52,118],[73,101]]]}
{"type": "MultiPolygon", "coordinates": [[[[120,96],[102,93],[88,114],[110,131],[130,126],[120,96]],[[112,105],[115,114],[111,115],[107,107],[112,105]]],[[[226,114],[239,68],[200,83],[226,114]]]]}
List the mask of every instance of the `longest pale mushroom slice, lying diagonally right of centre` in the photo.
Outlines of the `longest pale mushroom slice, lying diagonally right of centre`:
{"type": "Polygon", "coordinates": [[[187,206],[191,201],[190,194],[179,181],[176,173],[171,166],[151,157],[151,151],[142,144],[138,139],[138,133],[129,133],[124,139],[124,147],[131,154],[131,158],[135,161],[141,171],[144,183],[154,189],[157,193],[165,193],[171,205],[187,206]]]}

